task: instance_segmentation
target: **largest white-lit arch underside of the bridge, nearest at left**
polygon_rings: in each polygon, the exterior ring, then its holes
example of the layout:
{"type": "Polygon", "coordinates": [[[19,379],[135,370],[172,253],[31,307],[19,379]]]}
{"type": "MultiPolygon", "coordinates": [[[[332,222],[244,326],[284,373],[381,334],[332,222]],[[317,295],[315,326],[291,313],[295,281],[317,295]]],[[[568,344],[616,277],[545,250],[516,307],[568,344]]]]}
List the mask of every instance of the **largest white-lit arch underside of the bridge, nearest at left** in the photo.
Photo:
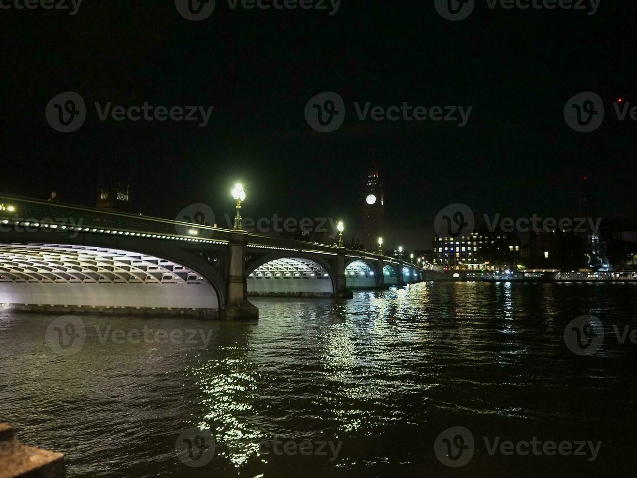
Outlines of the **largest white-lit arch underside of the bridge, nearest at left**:
{"type": "Polygon", "coordinates": [[[218,310],[217,293],[180,264],[125,250],[0,245],[0,305],[218,310]]]}

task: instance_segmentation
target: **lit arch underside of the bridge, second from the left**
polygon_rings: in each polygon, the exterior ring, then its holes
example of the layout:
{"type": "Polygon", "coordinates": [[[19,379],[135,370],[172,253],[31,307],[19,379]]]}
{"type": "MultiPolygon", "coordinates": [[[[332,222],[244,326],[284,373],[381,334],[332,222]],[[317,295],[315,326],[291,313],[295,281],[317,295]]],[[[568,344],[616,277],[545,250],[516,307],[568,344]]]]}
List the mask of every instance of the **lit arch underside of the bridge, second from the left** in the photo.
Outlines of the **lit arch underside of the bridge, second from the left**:
{"type": "Polygon", "coordinates": [[[334,286],[329,273],[311,259],[275,259],[248,275],[248,295],[329,296],[333,293],[334,286]]]}

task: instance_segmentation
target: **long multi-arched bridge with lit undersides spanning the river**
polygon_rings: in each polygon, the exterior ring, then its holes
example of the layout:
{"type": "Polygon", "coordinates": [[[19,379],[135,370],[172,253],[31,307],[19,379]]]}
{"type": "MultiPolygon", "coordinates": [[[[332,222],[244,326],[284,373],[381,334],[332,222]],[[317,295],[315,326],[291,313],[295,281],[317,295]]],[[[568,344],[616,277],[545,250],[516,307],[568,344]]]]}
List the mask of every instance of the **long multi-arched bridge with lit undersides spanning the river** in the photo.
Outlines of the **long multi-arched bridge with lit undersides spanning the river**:
{"type": "Polygon", "coordinates": [[[0,194],[0,307],[257,318],[248,296],[352,296],[423,280],[406,261],[238,228],[0,194]]]}

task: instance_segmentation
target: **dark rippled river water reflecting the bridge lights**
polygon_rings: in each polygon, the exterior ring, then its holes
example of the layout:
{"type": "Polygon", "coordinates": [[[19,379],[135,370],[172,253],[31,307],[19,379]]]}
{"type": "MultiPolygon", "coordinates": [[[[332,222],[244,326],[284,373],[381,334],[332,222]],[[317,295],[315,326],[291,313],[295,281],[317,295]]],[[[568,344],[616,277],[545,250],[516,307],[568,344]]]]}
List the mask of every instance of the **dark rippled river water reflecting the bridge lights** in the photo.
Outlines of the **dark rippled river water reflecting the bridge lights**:
{"type": "Polygon", "coordinates": [[[253,298],[259,322],[89,315],[71,356],[45,344],[54,316],[0,312],[0,421],[64,451],[71,477],[633,475],[637,345],[611,326],[637,326],[636,296],[633,284],[436,283],[253,298]],[[562,340],[583,314],[608,328],[595,356],[562,340]],[[104,341],[145,326],[204,338],[104,341]],[[216,436],[206,467],[176,458],[193,426],[216,436]],[[450,426],[476,437],[462,468],[434,454],[450,426]],[[259,455],[273,437],[342,445],[336,459],[259,455]],[[594,461],[490,456],[482,437],[602,444],[594,461]]]}

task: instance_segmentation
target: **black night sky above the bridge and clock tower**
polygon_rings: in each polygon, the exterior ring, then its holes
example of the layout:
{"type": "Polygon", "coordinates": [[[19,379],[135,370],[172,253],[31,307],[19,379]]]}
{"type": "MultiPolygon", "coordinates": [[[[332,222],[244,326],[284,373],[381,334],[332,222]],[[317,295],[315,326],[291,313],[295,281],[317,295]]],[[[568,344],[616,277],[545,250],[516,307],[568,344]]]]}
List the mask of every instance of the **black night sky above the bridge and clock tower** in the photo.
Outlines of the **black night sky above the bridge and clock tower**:
{"type": "Polygon", "coordinates": [[[389,240],[406,247],[431,247],[433,217],[450,203],[476,214],[573,215],[582,176],[598,185],[603,214],[634,214],[636,127],[613,117],[612,102],[637,98],[636,10],[601,0],[593,16],[492,11],[478,0],[461,22],[443,20],[433,0],[343,0],[334,16],[231,10],[217,0],[201,22],[180,17],[169,0],[84,0],[75,16],[0,10],[0,191],[47,198],[55,190],[64,202],[93,205],[97,185],[131,177],[135,209],[172,218],[199,202],[232,213],[229,190],[242,180],[245,215],[342,216],[355,226],[375,148],[387,221],[400,228],[389,240]],[[64,91],[89,106],[75,133],[45,119],[64,91]],[[335,133],[304,120],[323,91],[347,105],[335,133]],[[575,133],[562,116],[582,91],[606,103],[595,133],[575,133]],[[95,101],[215,108],[202,128],[101,122],[95,101]],[[354,101],[473,112],[464,128],[359,122],[354,101]]]}

